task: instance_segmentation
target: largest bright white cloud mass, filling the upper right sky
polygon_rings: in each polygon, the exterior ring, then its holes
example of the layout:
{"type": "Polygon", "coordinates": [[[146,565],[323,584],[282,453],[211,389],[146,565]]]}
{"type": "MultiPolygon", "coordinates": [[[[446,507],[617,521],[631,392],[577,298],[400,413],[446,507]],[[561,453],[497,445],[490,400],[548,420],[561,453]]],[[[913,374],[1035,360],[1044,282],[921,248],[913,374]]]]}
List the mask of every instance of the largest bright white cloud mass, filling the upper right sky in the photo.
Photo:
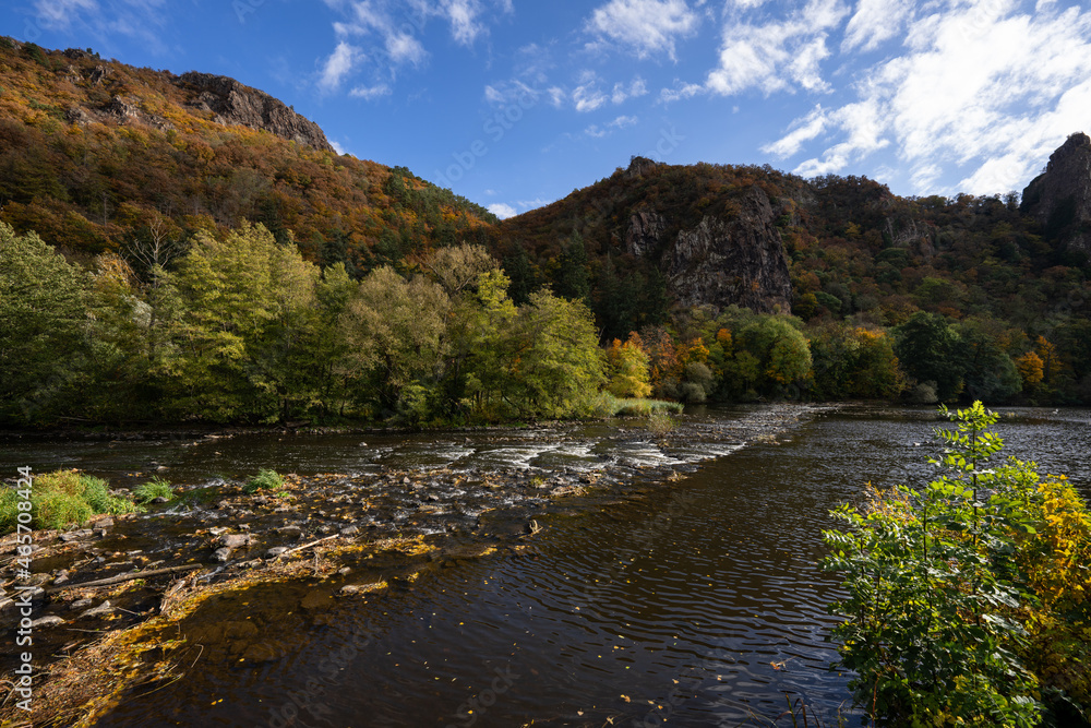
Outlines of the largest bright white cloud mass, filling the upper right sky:
{"type": "MultiPolygon", "coordinates": [[[[862,13],[878,4],[858,4],[842,52],[873,48],[867,38],[874,36],[865,33],[873,21],[862,13]]],[[[1088,128],[1086,8],[1039,2],[1030,12],[1016,0],[933,0],[902,20],[895,23],[904,26],[897,35],[901,56],[860,71],[854,99],[801,117],[764,151],[791,156],[822,139],[818,154],[812,150],[795,170],[818,175],[859,166],[892,146],[914,192],[992,194],[1020,189],[1069,133],[1088,128]],[[945,189],[934,189],[937,183],[945,189]]],[[[748,83],[777,87],[769,77],[757,74],[748,83]]]]}

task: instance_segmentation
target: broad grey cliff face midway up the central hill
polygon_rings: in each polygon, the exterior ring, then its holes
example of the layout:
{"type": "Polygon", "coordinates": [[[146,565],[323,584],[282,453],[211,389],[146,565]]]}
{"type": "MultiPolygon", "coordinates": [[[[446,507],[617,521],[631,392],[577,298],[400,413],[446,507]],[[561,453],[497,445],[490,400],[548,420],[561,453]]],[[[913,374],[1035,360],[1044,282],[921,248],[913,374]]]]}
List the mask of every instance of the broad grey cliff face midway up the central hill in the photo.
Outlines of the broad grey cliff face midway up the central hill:
{"type": "Polygon", "coordinates": [[[706,215],[696,227],[681,230],[663,260],[678,302],[790,311],[792,282],[775,222],[769,198],[754,187],[732,219],[706,215]]]}

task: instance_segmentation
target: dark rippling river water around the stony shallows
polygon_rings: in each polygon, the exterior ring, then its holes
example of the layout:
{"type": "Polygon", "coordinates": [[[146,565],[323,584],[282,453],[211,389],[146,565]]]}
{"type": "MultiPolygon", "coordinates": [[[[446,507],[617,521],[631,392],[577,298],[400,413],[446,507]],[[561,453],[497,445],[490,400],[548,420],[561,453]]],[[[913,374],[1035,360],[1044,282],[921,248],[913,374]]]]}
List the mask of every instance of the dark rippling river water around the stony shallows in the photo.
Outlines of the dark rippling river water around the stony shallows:
{"type": "MultiPolygon", "coordinates": [[[[1065,473],[1091,494],[1091,410],[1002,411],[1007,454],[1065,473]]],[[[834,623],[825,605],[838,587],[817,565],[822,529],[864,482],[927,479],[937,425],[931,409],[852,406],[742,447],[726,440],[666,451],[595,426],[566,429],[548,446],[379,435],[365,457],[348,450],[359,437],[235,439],[201,445],[203,456],[179,442],[4,441],[0,467],[123,478],[154,461],[172,479],[201,479],[255,466],[346,472],[491,460],[546,470],[621,461],[657,486],[543,515],[528,556],[459,562],[321,613],[263,611],[260,589],[225,598],[218,618],[256,623],[283,656],[257,665],[199,659],[182,680],[127,696],[99,726],[791,725],[789,703],[837,725],[852,709],[848,676],[828,669],[836,653],[824,642],[834,623]],[[671,481],[662,467],[638,469],[685,463],[671,481]]]]}

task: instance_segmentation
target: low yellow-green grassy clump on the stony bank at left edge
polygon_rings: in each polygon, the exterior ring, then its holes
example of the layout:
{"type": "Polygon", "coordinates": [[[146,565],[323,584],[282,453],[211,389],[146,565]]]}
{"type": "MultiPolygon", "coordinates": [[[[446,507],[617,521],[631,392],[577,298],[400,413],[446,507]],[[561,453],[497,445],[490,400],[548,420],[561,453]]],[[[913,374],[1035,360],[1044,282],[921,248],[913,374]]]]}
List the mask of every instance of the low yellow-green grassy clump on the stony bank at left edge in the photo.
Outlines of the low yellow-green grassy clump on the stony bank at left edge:
{"type": "MultiPolygon", "coordinates": [[[[15,529],[20,498],[13,489],[0,491],[0,530],[15,529]]],[[[31,496],[31,525],[34,528],[62,529],[86,523],[93,515],[133,513],[131,501],[109,494],[101,478],[75,470],[57,470],[37,476],[31,496]]]]}

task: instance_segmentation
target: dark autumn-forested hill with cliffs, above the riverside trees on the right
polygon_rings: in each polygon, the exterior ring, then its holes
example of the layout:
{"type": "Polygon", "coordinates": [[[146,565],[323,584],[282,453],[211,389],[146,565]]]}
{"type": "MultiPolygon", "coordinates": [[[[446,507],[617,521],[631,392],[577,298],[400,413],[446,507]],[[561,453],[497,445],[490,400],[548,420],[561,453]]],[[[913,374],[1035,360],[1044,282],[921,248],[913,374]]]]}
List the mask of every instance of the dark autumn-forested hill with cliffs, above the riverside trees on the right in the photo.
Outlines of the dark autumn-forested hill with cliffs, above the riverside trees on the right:
{"type": "MultiPolygon", "coordinates": [[[[1072,139],[1091,151],[1087,136],[1072,139]]],[[[805,180],[769,166],[634,158],[627,169],[505,220],[496,247],[507,256],[513,289],[542,281],[571,287],[568,261],[586,256],[588,298],[608,336],[663,318],[649,306],[657,281],[670,300],[686,306],[733,302],[790,310],[805,321],[880,326],[923,310],[952,320],[984,317],[1036,335],[1058,318],[1087,313],[1091,274],[1080,237],[1091,229],[1091,214],[1075,215],[1091,203],[1091,194],[1081,196],[1091,171],[1055,175],[1057,201],[1043,210],[1036,201],[1046,177],[1030,188],[1034,204],[1021,207],[1015,193],[901,198],[864,177],[805,180]],[[700,240],[695,246],[707,230],[705,249],[700,240]],[[583,250],[574,252],[573,240],[583,250]],[[768,259],[782,247],[790,290],[775,260],[731,259],[740,243],[752,252],[768,247],[768,259]],[[731,295],[702,290],[715,275],[746,285],[731,295]]]]}

